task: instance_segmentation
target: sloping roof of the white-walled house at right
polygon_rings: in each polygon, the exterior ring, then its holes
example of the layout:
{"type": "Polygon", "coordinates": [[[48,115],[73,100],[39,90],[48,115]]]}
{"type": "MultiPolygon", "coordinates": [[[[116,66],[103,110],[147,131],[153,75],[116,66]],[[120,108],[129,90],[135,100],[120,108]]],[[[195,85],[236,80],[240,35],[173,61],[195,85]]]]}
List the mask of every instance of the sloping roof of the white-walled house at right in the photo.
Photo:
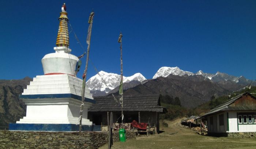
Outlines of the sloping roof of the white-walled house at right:
{"type": "Polygon", "coordinates": [[[206,114],[202,115],[202,117],[208,116],[208,115],[212,115],[214,113],[217,112],[221,112],[221,111],[234,111],[234,110],[256,110],[256,107],[252,106],[230,106],[232,103],[236,102],[238,99],[240,99],[242,96],[245,95],[249,95],[252,98],[256,99],[254,96],[252,96],[250,93],[245,92],[242,93],[234,98],[231,98],[230,100],[227,100],[226,102],[220,104],[219,106],[213,108],[212,110],[210,110],[209,112],[207,112],[206,114]]]}

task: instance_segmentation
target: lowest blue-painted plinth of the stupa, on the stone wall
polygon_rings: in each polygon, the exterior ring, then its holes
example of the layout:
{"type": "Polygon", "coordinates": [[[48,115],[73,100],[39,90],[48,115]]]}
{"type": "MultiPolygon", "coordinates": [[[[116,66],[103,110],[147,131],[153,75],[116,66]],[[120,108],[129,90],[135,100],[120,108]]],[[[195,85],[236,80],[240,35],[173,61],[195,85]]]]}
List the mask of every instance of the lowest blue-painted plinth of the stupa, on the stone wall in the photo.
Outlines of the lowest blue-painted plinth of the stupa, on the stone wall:
{"type": "MultiPolygon", "coordinates": [[[[9,123],[9,130],[14,131],[79,131],[75,124],[25,124],[9,123]]],[[[100,125],[82,125],[82,131],[101,131],[100,125]]]]}

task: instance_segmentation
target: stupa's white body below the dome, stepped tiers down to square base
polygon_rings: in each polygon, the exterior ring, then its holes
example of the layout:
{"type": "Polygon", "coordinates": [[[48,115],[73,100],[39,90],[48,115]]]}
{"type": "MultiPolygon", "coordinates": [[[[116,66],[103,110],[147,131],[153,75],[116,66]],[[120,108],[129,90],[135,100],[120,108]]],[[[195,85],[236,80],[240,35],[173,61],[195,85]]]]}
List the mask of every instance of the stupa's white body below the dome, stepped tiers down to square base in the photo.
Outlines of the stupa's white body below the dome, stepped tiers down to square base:
{"type": "MultiPolygon", "coordinates": [[[[61,126],[55,124],[72,124],[72,127],[77,127],[73,125],[79,121],[82,83],[82,79],[68,74],[34,77],[19,96],[27,105],[27,110],[26,116],[16,122],[17,127],[23,124],[54,124],[54,127],[61,126]]],[[[87,119],[87,110],[94,103],[86,87],[82,125],[93,125],[87,119]]]]}

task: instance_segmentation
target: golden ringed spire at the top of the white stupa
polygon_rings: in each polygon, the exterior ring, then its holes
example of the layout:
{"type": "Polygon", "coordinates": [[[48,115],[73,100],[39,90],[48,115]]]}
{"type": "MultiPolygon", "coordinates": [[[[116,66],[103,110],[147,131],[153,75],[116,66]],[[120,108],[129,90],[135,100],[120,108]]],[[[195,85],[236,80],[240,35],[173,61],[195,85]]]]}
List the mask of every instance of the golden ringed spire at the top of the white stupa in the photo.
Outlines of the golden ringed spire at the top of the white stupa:
{"type": "Polygon", "coordinates": [[[61,7],[62,12],[60,12],[60,24],[59,31],[57,35],[56,46],[69,46],[69,35],[68,35],[68,13],[66,12],[65,3],[61,7]]]}

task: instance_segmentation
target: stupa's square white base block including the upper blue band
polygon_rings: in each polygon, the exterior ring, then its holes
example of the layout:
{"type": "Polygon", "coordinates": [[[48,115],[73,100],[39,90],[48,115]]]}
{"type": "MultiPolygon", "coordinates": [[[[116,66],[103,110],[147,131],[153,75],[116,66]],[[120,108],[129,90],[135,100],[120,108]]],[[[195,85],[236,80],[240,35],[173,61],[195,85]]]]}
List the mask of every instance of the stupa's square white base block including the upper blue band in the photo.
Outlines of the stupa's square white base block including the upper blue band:
{"type": "MultiPolygon", "coordinates": [[[[17,121],[21,124],[74,124],[79,121],[81,96],[71,93],[20,95],[27,105],[26,116],[17,121]]],[[[95,100],[84,98],[82,125],[93,125],[87,119],[87,109],[95,100]]]]}

